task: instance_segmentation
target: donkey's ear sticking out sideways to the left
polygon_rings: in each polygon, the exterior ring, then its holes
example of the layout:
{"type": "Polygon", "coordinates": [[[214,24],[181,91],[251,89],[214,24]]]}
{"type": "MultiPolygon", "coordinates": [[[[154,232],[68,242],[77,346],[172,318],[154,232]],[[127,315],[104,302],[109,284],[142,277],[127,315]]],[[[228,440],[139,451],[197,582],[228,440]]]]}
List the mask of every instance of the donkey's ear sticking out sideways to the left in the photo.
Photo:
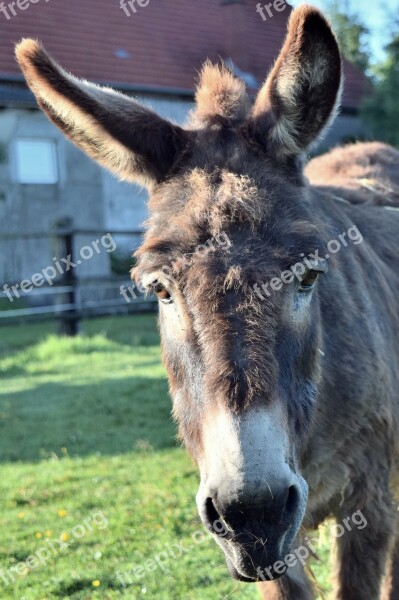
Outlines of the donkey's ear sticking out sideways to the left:
{"type": "Polygon", "coordinates": [[[47,116],[79,148],[121,179],[164,179],[188,133],[128,96],[66,73],[35,40],[16,47],[27,83],[47,116]]]}

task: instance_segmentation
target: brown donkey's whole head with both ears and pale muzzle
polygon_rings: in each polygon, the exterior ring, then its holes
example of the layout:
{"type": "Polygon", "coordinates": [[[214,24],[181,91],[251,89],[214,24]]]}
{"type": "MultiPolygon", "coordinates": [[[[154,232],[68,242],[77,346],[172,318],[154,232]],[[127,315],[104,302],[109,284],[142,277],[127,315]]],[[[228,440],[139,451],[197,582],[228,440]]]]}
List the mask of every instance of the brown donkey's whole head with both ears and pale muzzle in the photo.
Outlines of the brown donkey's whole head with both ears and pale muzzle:
{"type": "Polygon", "coordinates": [[[331,29],[314,8],[294,11],[253,105],[227,69],[206,64],[185,129],[77,80],[35,41],[17,58],[75,144],[149,188],[134,277],[159,298],[174,414],[201,473],[199,513],[231,574],[259,579],[289,551],[307,502],[300,458],[317,396],[323,267],[307,261],[301,281],[273,278],[325,244],[302,156],[338,102],[331,29]]]}

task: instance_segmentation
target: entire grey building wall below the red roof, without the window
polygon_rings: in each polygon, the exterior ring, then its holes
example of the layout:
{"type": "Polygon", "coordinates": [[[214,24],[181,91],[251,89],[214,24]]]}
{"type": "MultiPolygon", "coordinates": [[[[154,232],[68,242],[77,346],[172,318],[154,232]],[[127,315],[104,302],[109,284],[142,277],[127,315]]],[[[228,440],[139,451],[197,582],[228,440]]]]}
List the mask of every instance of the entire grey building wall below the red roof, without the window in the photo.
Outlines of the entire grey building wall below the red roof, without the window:
{"type": "MultiPolygon", "coordinates": [[[[163,117],[184,123],[192,102],[187,99],[141,97],[163,117]]],[[[348,137],[364,137],[364,126],[354,116],[341,115],[320,149],[348,137]]],[[[38,110],[6,108],[0,111],[0,148],[7,156],[0,159],[0,283],[17,282],[52,264],[60,248],[48,239],[4,241],[4,234],[51,232],[62,222],[71,221],[76,229],[98,231],[140,230],[146,218],[147,193],[138,186],[117,181],[68,142],[38,110]],[[15,140],[19,137],[55,140],[59,181],[55,185],[20,184],[15,177],[15,140]],[[3,239],[2,238],[3,234],[3,239]]],[[[0,157],[2,153],[0,152],[0,157]]],[[[93,235],[76,240],[75,253],[90,244],[93,235]]],[[[115,236],[117,253],[127,255],[139,244],[138,236],[115,236]]],[[[110,255],[101,252],[84,261],[76,275],[110,274],[110,255]]]]}

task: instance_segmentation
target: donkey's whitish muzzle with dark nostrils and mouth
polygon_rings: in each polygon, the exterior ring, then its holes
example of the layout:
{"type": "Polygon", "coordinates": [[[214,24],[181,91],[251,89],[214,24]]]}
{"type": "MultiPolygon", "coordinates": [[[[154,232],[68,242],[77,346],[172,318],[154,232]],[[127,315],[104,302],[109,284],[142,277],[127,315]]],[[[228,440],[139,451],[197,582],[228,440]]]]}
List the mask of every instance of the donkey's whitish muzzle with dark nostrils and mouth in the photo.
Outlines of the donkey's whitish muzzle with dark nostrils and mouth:
{"type": "Polygon", "coordinates": [[[296,549],[308,485],[293,468],[292,448],[278,408],[235,417],[213,414],[200,461],[197,506],[222,548],[230,574],[268,581],[296,549]],[[215,440],[218,440],[217,442],[215,440]],[[287,457],[291,457],[288,460],[287,457]]]}

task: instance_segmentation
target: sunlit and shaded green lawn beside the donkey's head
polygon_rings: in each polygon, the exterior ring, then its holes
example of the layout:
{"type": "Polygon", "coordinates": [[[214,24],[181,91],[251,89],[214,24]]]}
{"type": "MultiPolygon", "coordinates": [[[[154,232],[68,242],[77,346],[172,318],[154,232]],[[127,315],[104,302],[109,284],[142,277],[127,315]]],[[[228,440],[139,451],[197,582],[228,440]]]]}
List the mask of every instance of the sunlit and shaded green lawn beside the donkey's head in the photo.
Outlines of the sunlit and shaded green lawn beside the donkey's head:
{"type": "Polygon", "coordinates": [[[1,600],[258,598],[197,516],[154,316],[2,327],[0,433],[1,600]]]}

